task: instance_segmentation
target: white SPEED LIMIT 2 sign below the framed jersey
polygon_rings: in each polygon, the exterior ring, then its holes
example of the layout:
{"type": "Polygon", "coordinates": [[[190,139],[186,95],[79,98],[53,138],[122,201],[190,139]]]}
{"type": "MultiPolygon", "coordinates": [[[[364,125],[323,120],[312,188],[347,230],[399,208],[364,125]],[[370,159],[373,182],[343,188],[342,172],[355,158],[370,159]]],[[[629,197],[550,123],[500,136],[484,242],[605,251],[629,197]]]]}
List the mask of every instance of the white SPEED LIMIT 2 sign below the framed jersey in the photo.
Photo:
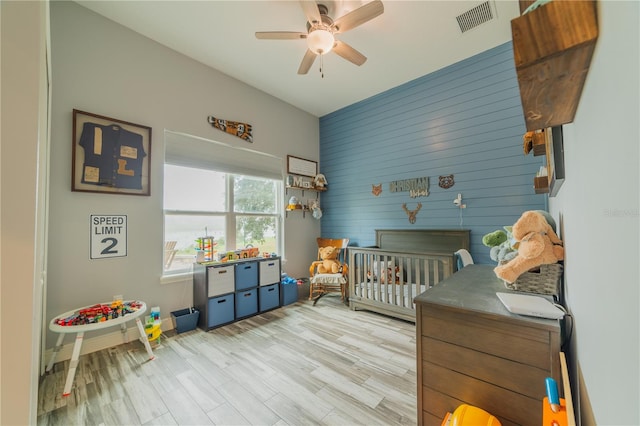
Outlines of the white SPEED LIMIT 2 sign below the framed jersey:
{"type": "Polygon", "coordinates": [[[91,259],[127,255],[127,216],[91,215],[91,259]]]}

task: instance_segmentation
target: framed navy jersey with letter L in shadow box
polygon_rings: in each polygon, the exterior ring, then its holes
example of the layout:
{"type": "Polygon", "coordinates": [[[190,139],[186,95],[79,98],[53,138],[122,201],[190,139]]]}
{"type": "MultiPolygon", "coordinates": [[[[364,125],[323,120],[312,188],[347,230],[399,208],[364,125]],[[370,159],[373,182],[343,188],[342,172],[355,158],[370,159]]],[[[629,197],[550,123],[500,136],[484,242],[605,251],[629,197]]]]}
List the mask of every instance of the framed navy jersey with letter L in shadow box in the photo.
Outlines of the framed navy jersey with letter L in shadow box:
{"type": "Polygon", "coordinates": [[[151,195],[151,127],[73,110],[71,190],[151,195]]]}

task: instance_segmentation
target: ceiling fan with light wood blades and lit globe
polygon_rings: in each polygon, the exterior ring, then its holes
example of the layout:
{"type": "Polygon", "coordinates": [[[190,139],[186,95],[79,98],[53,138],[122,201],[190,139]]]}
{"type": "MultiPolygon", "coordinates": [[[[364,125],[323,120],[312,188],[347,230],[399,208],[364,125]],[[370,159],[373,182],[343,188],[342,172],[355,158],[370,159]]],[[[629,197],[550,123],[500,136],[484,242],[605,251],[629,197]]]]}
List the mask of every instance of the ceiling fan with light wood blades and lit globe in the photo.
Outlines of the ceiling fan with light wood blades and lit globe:
{"type": "MultiPolygon", "coordinates": [[[[367,57],[358,52],[347,43],[336,40],[335,34],[347,32],[365,22],[370,21],[384,12],[384,6],[380,0],[374,0],[346,15],[333,20],[328,15],[328,8],[324,4],[316,4],[315,1],[300,1],[302,10],[307,17],[307,32],[294,31],[261,31],[256,32],[256,38],[268,40],[307,40],[307,52],[302,58],[298,74],[306,74],[316,56],[322,56],[334,51],[339,56],[356,65],[362,65],[367,57]]],[[[322,66],[320,68],[322,72],[322,66]]]]}

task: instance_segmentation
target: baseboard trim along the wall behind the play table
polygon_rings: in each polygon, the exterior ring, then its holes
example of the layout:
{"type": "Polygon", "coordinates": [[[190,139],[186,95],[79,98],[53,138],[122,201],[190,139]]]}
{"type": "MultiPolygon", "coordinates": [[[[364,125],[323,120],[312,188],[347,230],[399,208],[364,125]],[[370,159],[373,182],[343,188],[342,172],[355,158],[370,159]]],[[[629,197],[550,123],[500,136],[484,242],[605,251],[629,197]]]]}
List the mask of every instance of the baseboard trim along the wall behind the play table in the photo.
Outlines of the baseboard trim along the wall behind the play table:
{"type": "MultiPolygon", "coordinates": [[[[162,324],[160,329],[164,331],[173,330],[173,321],[171,318],[164,318],[161,320],[162,324]]],[[[129,325],[127,323],[127,325],[129,325]]],[[[80,355],[90,354],[92,352],[101,351],[103,349],[112,348],[114,346],[122,345],[140,339],[140,332],[134,321],[131,321],[130,327],[122,331],[118,329],[111,333],[102,334],[100,336],[91,337],[90,333],[85,333],[84,340],[82,342],[82,350],[80,355]]],[[[68,343],[64,343],[60,347],[60,351],[56,356],[56,362],[66,361],[71,359],[71,353],[73,352],[73,345],[75,343],[75,334],[68,333],[69,336],[65,336],[65,340],[69,340],[68,343]]],[[[57,338],[57,336],[56,336],[57,338]]],[[[53,354],[53,348],[49,348],[45,351],[45,362],[48,363],[53,354]]]]}

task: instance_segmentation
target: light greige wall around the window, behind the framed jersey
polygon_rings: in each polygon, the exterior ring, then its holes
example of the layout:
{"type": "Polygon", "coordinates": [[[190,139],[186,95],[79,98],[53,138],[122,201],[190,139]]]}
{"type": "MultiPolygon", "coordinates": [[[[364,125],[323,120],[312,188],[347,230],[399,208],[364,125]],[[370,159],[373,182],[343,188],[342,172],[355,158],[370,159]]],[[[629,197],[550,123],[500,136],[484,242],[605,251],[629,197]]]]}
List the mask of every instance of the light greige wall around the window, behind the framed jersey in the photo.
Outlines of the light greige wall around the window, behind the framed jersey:
{"type": "MultiPolygon", "coordinates": [[[[286,165],[287,154],[318,160],[318,119],[76,3],[52,2],[51,21],[47,318],[115,294],[160,306],[168,318],[171,311],[192,304],[192,283],[160,282],[164,129],[277,155],[286,165]],[[152,127],[150,197],[71,191],[74,108],[152,127]],[[252,124],[254,143],[214,129],[207,123],[209,115],[252,124]],[[127,257],[89,259],[91,214],[128,216],[127,257]]],[[[319,223],[309,216],[285,220],[286,272],[308,276],[318,235],[319,223]]]]}

